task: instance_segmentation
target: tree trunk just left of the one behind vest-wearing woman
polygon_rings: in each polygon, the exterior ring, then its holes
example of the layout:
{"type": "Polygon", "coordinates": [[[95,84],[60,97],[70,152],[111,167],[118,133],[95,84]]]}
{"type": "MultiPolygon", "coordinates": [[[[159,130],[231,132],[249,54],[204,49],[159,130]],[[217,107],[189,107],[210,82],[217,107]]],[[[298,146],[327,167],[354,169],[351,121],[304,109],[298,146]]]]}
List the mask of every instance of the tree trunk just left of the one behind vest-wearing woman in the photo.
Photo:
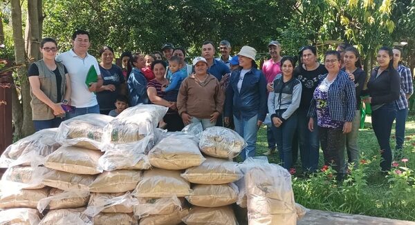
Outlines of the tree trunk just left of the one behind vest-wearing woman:
{"type": "MultiPolygon", "coordinates": [[[[15,43],[15,63],[17,65],[26,63],[23,30],[21,23],[21,8],[20,0],[11,0],[12,10],[12,29],[13,29],[13,42],[15,43]]],[[[19,66],[17,68],[17,79],[26,75],[26,67],[19,66]]],[[[18,82],[16,82],[18,83],[18,82]]],[[[23,107],[19,103],[19,96],[16,89],[12,90],[12,118],[15,122],[15,137],[23,137],[23,107]]]]}

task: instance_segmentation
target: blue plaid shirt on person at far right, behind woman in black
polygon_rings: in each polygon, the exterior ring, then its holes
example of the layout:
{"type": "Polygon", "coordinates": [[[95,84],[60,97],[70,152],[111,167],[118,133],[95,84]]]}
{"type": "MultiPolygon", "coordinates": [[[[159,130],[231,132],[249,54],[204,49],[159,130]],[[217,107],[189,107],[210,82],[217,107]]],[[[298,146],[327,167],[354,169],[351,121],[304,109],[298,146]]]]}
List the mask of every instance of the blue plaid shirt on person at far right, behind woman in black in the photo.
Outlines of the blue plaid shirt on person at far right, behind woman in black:
{"type": "Polygon", "coordinates": [[[400,75],[400,97],[396,100],[396,105],[399,110],[403,110],[408,108],[406,95],[412,95],[412,93],[414,93],[414,86],[412,86],[412,75],[409,68],[399,64],[396,70],[398,70],[400,75]]]}

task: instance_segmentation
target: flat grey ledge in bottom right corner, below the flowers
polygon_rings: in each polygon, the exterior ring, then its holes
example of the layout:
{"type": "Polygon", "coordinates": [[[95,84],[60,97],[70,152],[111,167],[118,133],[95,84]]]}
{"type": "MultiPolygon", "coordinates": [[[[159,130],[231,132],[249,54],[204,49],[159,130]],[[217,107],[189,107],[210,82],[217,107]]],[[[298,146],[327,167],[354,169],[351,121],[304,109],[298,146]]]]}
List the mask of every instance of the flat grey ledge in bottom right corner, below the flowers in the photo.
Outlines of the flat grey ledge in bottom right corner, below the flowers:
{"type": "Polygon", "coordinates": [[[351,215],[344,213],[333,213],[328,211],[311,210],[297,222],[297,225],[415,225],[415,222],[387,219],[380,217],[369,217],[366,215],[351,215]]]}

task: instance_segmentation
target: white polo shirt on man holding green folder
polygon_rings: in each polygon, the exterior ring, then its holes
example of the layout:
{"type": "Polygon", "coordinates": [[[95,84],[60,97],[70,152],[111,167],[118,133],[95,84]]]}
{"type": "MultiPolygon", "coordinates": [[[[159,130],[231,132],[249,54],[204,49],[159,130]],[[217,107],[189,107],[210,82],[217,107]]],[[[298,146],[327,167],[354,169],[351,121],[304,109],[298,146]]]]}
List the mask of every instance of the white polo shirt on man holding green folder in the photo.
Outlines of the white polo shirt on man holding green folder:
{"type": "Polygon", "coordinates": [[[71,78],[72,106],[86,108],[98,105],[95,93],[90,92],[85,84],[86,75],[92,65],[95,67],[97,74],[101,74],[97,59],[88,53],[86,53],[85,59],[82,59],[71,49],[57,55],[56,61],[61,61],[66,66],[68,75],[71,78]]]}

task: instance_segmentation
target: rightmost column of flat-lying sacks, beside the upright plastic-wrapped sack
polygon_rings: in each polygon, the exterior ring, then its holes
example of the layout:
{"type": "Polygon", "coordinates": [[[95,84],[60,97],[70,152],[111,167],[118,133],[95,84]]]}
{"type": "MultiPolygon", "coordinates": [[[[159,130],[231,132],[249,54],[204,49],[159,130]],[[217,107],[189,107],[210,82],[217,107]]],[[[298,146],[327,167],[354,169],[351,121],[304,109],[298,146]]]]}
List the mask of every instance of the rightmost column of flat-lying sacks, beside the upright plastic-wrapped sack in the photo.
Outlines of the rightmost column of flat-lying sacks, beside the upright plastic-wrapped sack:
{"type": "Polygon", "coordinates": [[[201,133],[199,148],[210,157],[181,175],[193,184],[192,194],[186,196],[193,207],[183,218],[185,224],[237,224],[231,205],[237,202],[239,190],[233,182],[242,173],[230,160],[245,146],[243,138],[228,128],[212,127],[201,133]]]}

